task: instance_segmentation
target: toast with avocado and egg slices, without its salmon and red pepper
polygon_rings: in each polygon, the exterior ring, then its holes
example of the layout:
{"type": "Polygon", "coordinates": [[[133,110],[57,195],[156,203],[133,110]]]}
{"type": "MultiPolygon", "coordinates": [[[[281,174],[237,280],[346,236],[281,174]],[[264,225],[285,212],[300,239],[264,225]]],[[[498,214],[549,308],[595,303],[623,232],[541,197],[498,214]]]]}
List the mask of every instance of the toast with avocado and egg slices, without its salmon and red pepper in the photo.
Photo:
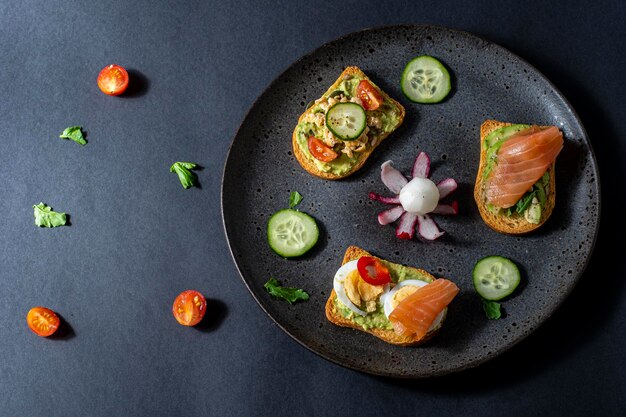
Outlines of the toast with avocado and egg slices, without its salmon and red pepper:
{"type": "MultiPolygon", "coordinates": [[[[374,262],[374,261],[372,261],[374,262]]],[[[435,281],[446,281],[458,293],[450,281],[436,279],[428,272],[377,258],[364,249],[350,246],[344,255],[341,268],[335,275],[333,291],[326,302],[326,318],[333,324],[372,334],[379,339],[398,346],[419,345],[437,334],[447,315],[447,307],[435,312],[434,320],[426,324],[424,334],[398,332],[389,317],[402,310],[403,301],[418,288],[435,281]],[[367,257],[380,262],[388,270],[391,282],[371,285],[365,282],[357,269],[359,259],[367,257]],[[343,300],[343,302],[341,301],[343,300]]],[[[450,299],[451,301],[451,299],[450,299]]],[[[448,301],[449,302],[449,301],[448,301]]],[[[447,303],[446,303],[447,306],[447,303]]]]}

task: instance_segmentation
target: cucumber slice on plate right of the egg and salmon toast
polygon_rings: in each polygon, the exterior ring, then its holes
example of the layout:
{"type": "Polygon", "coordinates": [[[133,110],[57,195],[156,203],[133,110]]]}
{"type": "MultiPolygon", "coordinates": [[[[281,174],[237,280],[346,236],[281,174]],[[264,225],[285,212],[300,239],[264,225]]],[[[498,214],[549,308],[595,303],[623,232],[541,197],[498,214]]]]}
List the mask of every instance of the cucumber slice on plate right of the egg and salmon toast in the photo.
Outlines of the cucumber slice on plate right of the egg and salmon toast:
{"type": "Polygon", "coordinates": [[[517,266],[502,256],[488,256],[474,266],[474,288],[485,300],[501,300],[510,295],[520,282],[517,266]]]}

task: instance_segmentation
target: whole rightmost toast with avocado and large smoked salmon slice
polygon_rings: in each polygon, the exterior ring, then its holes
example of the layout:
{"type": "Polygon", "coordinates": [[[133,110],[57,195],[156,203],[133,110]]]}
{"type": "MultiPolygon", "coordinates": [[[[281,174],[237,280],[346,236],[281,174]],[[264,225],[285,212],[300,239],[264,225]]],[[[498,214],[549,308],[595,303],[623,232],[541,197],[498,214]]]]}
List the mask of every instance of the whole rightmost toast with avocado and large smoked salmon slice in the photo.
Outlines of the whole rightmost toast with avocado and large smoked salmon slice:
{"type": "Polygon", "coordinates": [[[474,199],[497,232],[525,234],[541,227],[556,202],[555,161],[563,134],[555,126],[487,120],[480,127],[480,165],[474,199]]]}

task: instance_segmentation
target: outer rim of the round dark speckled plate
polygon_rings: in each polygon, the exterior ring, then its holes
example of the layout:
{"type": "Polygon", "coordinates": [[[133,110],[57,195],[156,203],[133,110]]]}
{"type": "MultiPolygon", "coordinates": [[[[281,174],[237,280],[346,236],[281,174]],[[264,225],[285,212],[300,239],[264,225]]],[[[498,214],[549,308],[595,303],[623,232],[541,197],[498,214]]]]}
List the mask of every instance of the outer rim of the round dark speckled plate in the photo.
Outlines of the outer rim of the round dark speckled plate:
{"type": "Polygon", "coordinates": [[[467,369],[471,369],[471,368],[475,368],[479,365],[482,365],[485,362],[489,362],[491,360],[493,360],[496,357],[499,357],[500,355],[502,355],[504,352],[506,352],[507,350],[511,349],[513,346],[517,345],[518,343],[522,342],[523,340],[525,340],[527,337],[529,337],[532,333],[534,333],[539,327],[541,327],[547,320],[548,318],[551,317],[551,315],[561,306],[561,304],[563,304],[563,302],[569,297],[570,293],[572,292],[572,290],[574,289],[574,287],[576,286],[576,284],[578,283],[578,281],[580,280],[580,278],[582,277],[582,275],[584,274],[585,270],[587,269],[587,266],[589,265],[589,261],[591,259],[591,256],[593,255],[594,249],[595,249],[595,245],[596,245],[596,241],[598,238],[598,232],[600,230],[600,220],[601,220],[601,213],[602,213],[602,195],[601,195],[601,183],[600,183],[600,172],[598,169],[598,162],[596,159],[596,155],[595,152],[593,150],[593,146],[591,145],[591,142],[589,140],[589,136],[587,134],[587,131],[584,127],[584,125],[582,124],[582,121],[580,120],[580,118],[578,117],[578,114],[576,113],[576,111],[574,110],[574,108],[572,107],[572,105],[570,104],[570,102],[565,98],[565,96],[561,93],[561,91],[559,91],[559,89],[545,76],[543,75],[543,73],[541,73],[541,71],[539,71],[537,68],[535,68],[532,64],[530,64],[528,61],[526,61],[525,59],[521,58],[520,56],[518,56],[517,54],[509,51],[508,49],[504,48],[503,46],[498,45],[497,43],[494,43],[488,39],[485,39],[481,36],[475,35],[473,33],[467,32],[467,31],[463,31],[463,30],[458,30],[458,29],[450,29],[448,27],[445,26],[439,26],[439,25],[430,25],[430,24],[400,24],[400,25],[384,25],[384,26],[377,26],[377,27],[372,27],[372,28],[366,28],[366,29],[362,29],[356,32],[351,32],[348,33],[346,35],[340,36],[336,39],[333,39],[331,41],[328,41],[326,43],[324,43],[323,45],[313,49],[312,51],[302,55],[300,58],[298,58],[296,61],[292,62],[289,66],[287,66],[287,68],[285,68],[279,75],[277,75],[272,82],[263,90],[263,92],[256,98],[256,100],[254,100],[254,102],[250,105],[250,107],[248,108],[248,110],[246,111],[245,116],[243,117],[243,119],[241,120],[241,123],[239,124],[238,128],[237,128],[237,132],[235,132],[235,135],[233,136],[230,145],[228,147],[228,151],[226,154],[226,158],[224,160],[224,167],[222,169],[222,178],[221,178],[221,190],[220,190],[220,210],[221,210],[221,214],[222,214],[222,225],[224,228],[224,234],[226,237],[226,242],[228,244],[228,250],[230,252],[231,258],[233,260],[233,263],[235,264],[235,267],[237,269],[237,272],[239,273],[239,276],[241,277],[241,280],[243,281],[244,285],[246,286],[246,288],[248,289],[248,291],[250,292],[250,294],[252,295],[252,297],[254,298],[254,300],[257,302],[257,304],[259,305],[259,307],[261,308],[261,310],[263,310],[265,312],[265,314],[280,328],[282,329],[286,334],[288,334],[293,340],[295,340],[296,342],[298,342],[300,345],[302,345],[303,347],[305,347],[306,349],[310,350],[311,352],[315,353],[316,355],[332,362],[335,363],[337,365],[340,365],[342,367],[348,368],[348,369],[352,369],[355,371],[359,371],[359,372],[365,372],[365,373],[369,373],[369,374],[373,374],[373,375],[378,375],[378,376],[384,376],[384,377],[391,377],[391,378],[401,378],[401,379],[422,379],[422,378],[429,378],[429,377],[438,377],[438,376],[443,376],[443,375],[448,375],[448,374],[452,374],[452,373],[457,373],[457,372],[461,372],[467,369]],[[499,349],[497,349],[496,351],[492,352],[492,354],[490,356],[486,356],[474,361],[470,361],[467,362],[466,364],[456,367],[456,368],[451,368],[451,369],[447,369],[445,371],[442,372],[438,372],[429,376],[425,376],[425,375],[398,375],[395,373],[385,373],[385,372],[372,372],[370,370],[367,369],[363,369],[363,368],[359,368],[356,366],[350,366],[344,362],[342,362],[341,360],[338,360],[334,357],[332,357],[331,355],[327,355],[324,352],[320,352],[315,350],[314,348],[312,348],[311,346],[307,345],[306,343],[304,343],[303,341],[301,341],[298,337],[296,337],[294,334],[292,334],[285,326],[283,326],[279,321],[277,321],[270,313],[269,311],[264,307],[263,303],[259,300],[259,298],[257,297],[257,294],[255,294],[255,292],[252,290],[252,288],[250,287],[250,285],[248,284],[248,281],[246,280],[246,278],[243,276],[243,273],[241,272],[241,269],[239,267],[239,264],[237,263],[237,260],[235,258],[235,254],[233,252],[233,248],[231,246],[231,242],[230,239],[228,237],[228,224],[227,224],[227,220],[224,216],[224,194],[225,192],[227,192],[227,190],[224,189],[224,182],[225,182],[225,177],[227,174],[227,170],[228,170],[228,163],[231,159],[232,153],[231,150],[233,148],[233,145],[235,143],[235,140],[237,138],[237,136],[239,135],[239,132],[241,131],[241,128],[243,127],[244,123],[246,122],[246,120],[249,118],[250,114],[256,109],[259,101],[261,100],[262,97],[264,97],[269,91],[271,91],[274,86],[279,82],[280,79],[282,79],[283,75],[288,72],[293,66],[299,64],[300,62],[308,59],[309,57],[317,54],[320,50],[324,49],[324,48],[328,48],[329,46],[331,46],[334,43],[338,43],[346,38],[350,38],[353,36],[358,36],[358,35],[364,35],[368,32],[374,32],[374,31],[380,31],[380,30],[400,30],[400,29],[407,29],[407,30],[418,30],[418,29],[424,29],[424,30],[444,30],[444,31],[448,31],[452,34],[455,35],[459,35],[459,36],[463,36],[463,37],[470,37],[470,38],[474,38],[474,39],[478,39],[481,40],[483,42],[485,42],[486,44],[495,47],[499,50],[499,52],[503,53],[503,55],[508,55],[511,59],[513,60],[517,60],[521,63],[523,63],[524,65],[528,66],[531,70],[533,70],[535,72],[535,74],[537,75],[537,77],[541,78],[543,82],[545,82],[552,90],[552,92],[554,92],[554,94],[559,98],[559,100],[561,100],[563,102],[563,104],[565,105],[566,109],[568,112],[570,112],[572,114],[572,116],[574,117],[574,120],[576,121],[576,123],[578,124],[578,127],[580,128],[581,132],[583,133],[583,139],[585,141],[585,144],[588,147],[589,153],[591,154],[591,160],[592,160],[592,164],[593,164],[593,173],[595,175],[596,181],[594,182],[594,187],[596,188],[596,195],[597,195],[597,209],[596,209],[596,227],[595,230],[593,231],[593,238],[592,238],[592,243],[590,245],[590,249],[587,252],[584,262],[583,262],[583,267],[580,269],[580,271],[576,274],[576,276],[574,277],[574,279],[572,279],[569,282],[569,285],[565,288],[564,293],[562,294],[562,296],[557,300],[556,303],[554,303],[553,308],[549,311],[549,314],[545,315],[543,318],[541,318],[540,320],[537,320],[537,326],[527,332],[525,335],[519,337],[518,339],[513,339],[505,344],[503,344],[499,349]]]}

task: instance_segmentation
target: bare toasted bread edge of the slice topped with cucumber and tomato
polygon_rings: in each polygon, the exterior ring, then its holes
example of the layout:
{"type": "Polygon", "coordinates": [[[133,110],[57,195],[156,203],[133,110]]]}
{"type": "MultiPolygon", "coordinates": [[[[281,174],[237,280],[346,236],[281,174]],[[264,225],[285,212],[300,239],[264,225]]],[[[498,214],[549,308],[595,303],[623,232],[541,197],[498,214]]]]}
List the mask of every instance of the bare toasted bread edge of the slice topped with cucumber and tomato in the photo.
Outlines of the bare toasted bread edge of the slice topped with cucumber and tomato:
{"type": "MultiPolygon", "coordinates": [[[[300,165],[302,165],[302,168],[304,168],[306,171],[308,171],[310,174],[315,175],[316,177],[320,177],[326,180],[338,180],[341,178],[345,178],[351,174],[354,174],[356,171],[358,171],[363,164],[365,164],[365,161],[367,161],[367,158],[372,154],[372,152],[374,151],[374,149],[376,149],[378,147],[378,145],[380,145],[380,143],[387,138],[387,136],[389,136],[389,134],[391,134],[393,131],[395,131],[404,121],[404,116],[405,116],[405,110],[404,107],[398,103],[396,100],[392,99],[387,93],[385,93],[383,90],[381,90],[376,84],[374,84],[374,82],[372,82],[372,80],[370,80],[367,75],[365,75],[365,73],[363,73],[363,71],[361,71],[358,67],[347,67],[339,76],[339,78],[337,78],[337,81],[335,81],[335,83],[330,86],[330,88],[324,93],[324,95],[322,95],[322,97],[320,98],[320,100],[328,98],[334,91],[338,90],[340,85],[342,84],[343,81],[345,81],[346,79],[359,79],[359,80],[367,80],[369,81],[383,96],[384,99],[384,104],[386,106],[394,108],[395,107],[395,112],[397,112],[397,117],[398,117],[398,123],[393,127],[393,130],[391,130],[390,132],[381,132],[380,134],[377,134],[375,137],[375,142],[372,143],[372,139],[374,139],[373,137],[370,138],[368,146],[365,150],[361,151],[361,152],[355,152],[354,155],[356,157],[356,160],[354,161],[353,164],[351,164],[349,170],[347,170],[346,172],[343,172],[341,174],[336,174],[330,171],[324,171],[320,168],[318,168],[318,166],[316,165],[316,160],[313,158],[313,156],[310,154],[308,148],[307,149],[303,149],[303,146],[301,144],[298,143],[298,132],[299,132],[299,126],[300,123],[303,121],[303,119],[305,117],[307,117],[308,114],[313,113],[313,111],[315,110],[315,106],[311,106],[309,109],[307,109],[304,113],[302,113],[302,115],[300,116],[300,118],[298,119],[298,125],[296,125],[295,129],[293,130],[293,135],[292,135],[292,145],[293,145],[293,153],[296,156],[296,159],[298,160],[298,162],[300,163],[300,165]]],[[[318,100],[319,101],[319,100],[318,100]]],[[[317,103],[317,101],[316,101],[317,103]]],[[[341,142],[341,141],[339,141],[341,142]]],[[[319,163],[319,161],[318,161],[319,163]]],[[[332,162],[331,162],[332,164],[332,162]]]]}

